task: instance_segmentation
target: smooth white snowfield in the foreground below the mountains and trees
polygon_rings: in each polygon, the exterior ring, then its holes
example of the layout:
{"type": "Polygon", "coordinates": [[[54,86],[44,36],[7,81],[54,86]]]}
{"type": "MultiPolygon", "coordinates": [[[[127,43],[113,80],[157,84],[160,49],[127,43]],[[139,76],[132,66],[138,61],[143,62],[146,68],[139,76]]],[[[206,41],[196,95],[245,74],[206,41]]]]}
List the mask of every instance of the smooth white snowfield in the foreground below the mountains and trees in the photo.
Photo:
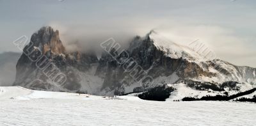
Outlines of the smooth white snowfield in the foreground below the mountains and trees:
{"type": "Polygon", "coordinates": [[[0,125],[255,125],[256,104],[154,102],[0,87],[0,125]]]}

